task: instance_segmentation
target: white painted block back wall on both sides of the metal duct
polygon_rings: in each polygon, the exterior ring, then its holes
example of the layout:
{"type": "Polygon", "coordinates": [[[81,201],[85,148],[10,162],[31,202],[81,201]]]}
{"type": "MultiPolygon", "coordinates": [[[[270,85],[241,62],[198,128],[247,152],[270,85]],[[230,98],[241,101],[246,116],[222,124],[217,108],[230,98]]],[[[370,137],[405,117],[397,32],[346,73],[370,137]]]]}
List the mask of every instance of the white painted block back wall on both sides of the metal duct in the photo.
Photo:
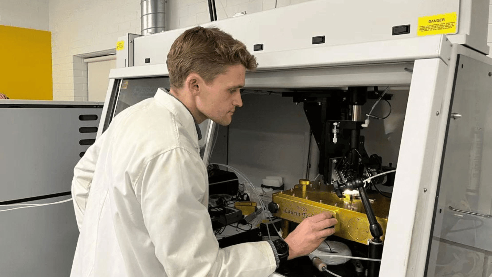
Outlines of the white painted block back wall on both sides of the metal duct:
{"type": "MultiPolygon", "coordinates": [[[[303,0],[277,0],[277,7],[303,0]]],[[[217,17],[275,8],[276,0],[218,0],[217,17]]],[[[169,0],[167,30],[210,21],[207,0],[169,0]]],[[[87,101],[87,65],[78,55],[114,50],[119,36],[140,34],[140,0],[49,0],[53,99],[87,101]]]]}

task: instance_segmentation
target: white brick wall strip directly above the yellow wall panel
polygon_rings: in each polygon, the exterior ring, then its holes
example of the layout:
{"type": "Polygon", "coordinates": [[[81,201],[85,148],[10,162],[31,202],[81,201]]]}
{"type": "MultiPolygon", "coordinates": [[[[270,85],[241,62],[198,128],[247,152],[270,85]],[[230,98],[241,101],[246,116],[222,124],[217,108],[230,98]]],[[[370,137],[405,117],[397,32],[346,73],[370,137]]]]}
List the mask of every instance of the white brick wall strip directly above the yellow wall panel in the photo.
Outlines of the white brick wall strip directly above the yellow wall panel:
{"type": "Polygon", "coordinates": [[[49,31],[48,0],[0,0],[0,25],[49,31]]]}

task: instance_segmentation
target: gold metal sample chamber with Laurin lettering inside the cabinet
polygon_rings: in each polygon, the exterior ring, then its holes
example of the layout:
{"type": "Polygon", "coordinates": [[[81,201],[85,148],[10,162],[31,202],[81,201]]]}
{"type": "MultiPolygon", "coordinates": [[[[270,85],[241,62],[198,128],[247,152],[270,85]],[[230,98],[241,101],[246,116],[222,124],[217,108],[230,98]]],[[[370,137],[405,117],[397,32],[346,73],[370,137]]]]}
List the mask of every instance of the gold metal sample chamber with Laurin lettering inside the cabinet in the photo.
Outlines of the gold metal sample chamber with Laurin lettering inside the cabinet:
{"type": "MultiPolygon", "coordinates": [[[[384,241],[390,199],[378,193],[368,192],[368,196],[376,220],[383,229],[381,240],[384,241]]],[[[338,198],[332,185],[301,181],[293,189],[274,193],[272,201],[278,205],[274,215],[282,219],[300,223],[304,218],[329,211],[338,220],[335,236],[364,244],[372,239],[362,200],[348,193],[345,198],[338,198]]]]}

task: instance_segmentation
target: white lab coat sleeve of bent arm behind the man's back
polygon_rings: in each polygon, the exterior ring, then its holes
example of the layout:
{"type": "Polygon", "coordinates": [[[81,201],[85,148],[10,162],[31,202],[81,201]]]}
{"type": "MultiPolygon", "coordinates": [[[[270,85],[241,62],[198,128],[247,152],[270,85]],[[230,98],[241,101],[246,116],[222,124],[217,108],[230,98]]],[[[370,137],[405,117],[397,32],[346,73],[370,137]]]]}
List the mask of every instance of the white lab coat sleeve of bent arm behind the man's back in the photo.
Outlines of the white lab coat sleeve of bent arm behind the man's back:
{"type": "Polygon", "coordinates": [[[72,199],[79,232],[82,227],[82,219],[84,218],[87,199],[89,198],[92,176],[94,175],[95,165],[99,156],[99,145],[102,143],[101,140],[102,137],[96,140],[95,143],[87,149],[86,153],[82,156],[73,170],[72,199]]]}

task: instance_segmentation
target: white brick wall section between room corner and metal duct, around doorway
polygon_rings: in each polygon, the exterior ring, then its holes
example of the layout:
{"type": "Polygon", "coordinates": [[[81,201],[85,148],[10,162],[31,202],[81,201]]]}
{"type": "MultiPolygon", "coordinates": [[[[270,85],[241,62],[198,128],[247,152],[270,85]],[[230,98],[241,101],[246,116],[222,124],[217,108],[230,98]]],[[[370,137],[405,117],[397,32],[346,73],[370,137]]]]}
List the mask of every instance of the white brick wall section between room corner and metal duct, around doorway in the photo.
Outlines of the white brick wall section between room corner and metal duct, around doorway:
{"type": "Polygon", "coordinates": [[[111,50],[118,36],[140,34],[140,0],[49,0],[49,14],[53,100],[87,101],[87,64],[77,55],[111,50]]]}

